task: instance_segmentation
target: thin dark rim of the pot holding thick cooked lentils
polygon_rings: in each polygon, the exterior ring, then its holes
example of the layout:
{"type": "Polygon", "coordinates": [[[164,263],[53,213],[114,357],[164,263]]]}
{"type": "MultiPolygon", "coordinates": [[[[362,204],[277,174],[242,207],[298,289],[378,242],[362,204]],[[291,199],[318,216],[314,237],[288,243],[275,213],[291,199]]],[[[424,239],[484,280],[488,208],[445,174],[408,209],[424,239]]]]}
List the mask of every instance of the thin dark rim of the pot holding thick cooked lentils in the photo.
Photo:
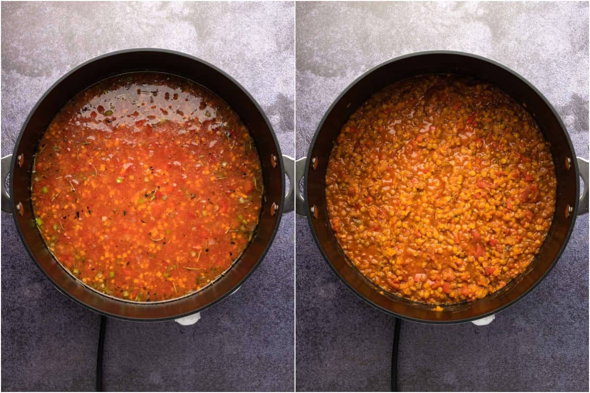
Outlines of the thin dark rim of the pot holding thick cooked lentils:
{"type": "MultiPolygon", "coordinates": [[[[336,106],[336,104],[339,103],[339,101],[342,99],[342,97],[346,93],[348,93],[348,91],[352,87],[354,87],[356,84],[358,84],[358,82],[360,82],[367,75],[371,74],[373,71],[376,71],[381,67],[385,67],[386,65],[391,64],[392,62],[403,60],[405,58],[419,57],[419,56],[424,56],[424,55],[455,55],[457,57],[470,57],[470,58],[474,58],[477,60],[488,62],[489,64],[499,67],[499,68],[503,69],[504,71],[507,71],[510,74],[517,77],[519,80],[524,82],[527,86],[529,86],[531,88],[531,90],[533,90],[543,100],[543,103],[545,103],[545,105],[547,105],[547,107],[552,111],[553,115],[555,115],[556,119],[558,120],[559,126],[561,127],[563,133],[565,134],[565,138],[568,141],[568,146],[569,146],[569,150],[572,152],[572,157],[575,157],[575,154],[574,154],[575,150],[573,149],[572,140],[569,137],[569,134],[567,132],[565,125],[563,124],[562,118],[559,116],[559,114],[557,113],[557,111],[555,110],[553,105],[549,102],[549,100],[545,97],[545,95],[543,95],[543,93],[541,93],[533,84],[531,84],[529,81],[527,81],[526,78],[524,78],[522,75],[518,74],[517,72],[511,70],[510,68],[506,67],[505,65],[500,64],[499,62],[491,60],[489,58],[486,58],[486,57],[483,57],[480,55],[471,54],[468,52],[447,51],[447,50],[420,51],[420,52],[413,52],[410,54],[401,55],[401,56],[392,58],[390,60],[386,60],[386,61],[381,62],[380,64],[375,65],[374,67],[370,68],[368,71],[363,72],[363,74],[361,74],[359,77],[355,78],[355,80],[350,82],[350,84],[344,90],[342,90],[342,92],[336,97],[336,99],[332,102],[332,104],[327,108],[326,112],[324,113],[324,115],[322,117],[322,120],[320,120],[320,123],[318,123],[318,126],[316,128],[316,132],[314,133],[312,141],[310,142],[309,148],[307,150],[307,157],[312,157],[312,151],[313,151],[313,148],[316,144],[316,139],[319,136],[320,130],[322,130],[322,127],[323,127],[327,117],[329,116],[330,113],[332,113],[332,110],[336,106]]],[[[578,162],[575,159],[573,159],[572,161],[573,161],[572,164],[573,164],[573,168],[575,170],[575,175],[576,175],[575,176],[576,177],[576,190],[577,190],[576,195],[578,195],[579,194],[579,186],[580,186],[578,162]]],[[[305,164],[305,170],[303,173],[304,174],[303,193],[304,193],[304,200],[305,201],[309,200],[309,198],[307,196],[308,180],[309,180],[307,174],[310,171],[310,166],[311,166],[311,160],[307,159],[306,164],[305,164]]],[[[314,240],[314,242],[316,242],[316,245],[319,248],[320,252],[322,253],[324,260],[326,260],[326,263],[330,266],[330,268],[333,270],[333,272],[336,273],[336,276],[338,276],[338,278],[343,283],[345,283],[346,288],[350,289],[353,293],[355,293],[356,296],[359,296],[359,298],[365,300],[365,302],[369,303],[373,307],[375,307],[385,313],[388,313],[389,315],[396,316],[397,318],[405,319],[407,321],[412,321],[412,322],[428,323],[428,324],[432,324],[432,325],[445,325],[445,324],[454,324],[454,323],[464,323],[464,322],[476,321],[477,319],[485,318],[486,316],[495,315],[496,313],[503,311],[503,310],[509,308],[510,306],[514,305],[515,303],[519,302],[519,300],[522,300],[523,298],[525,298],[526,295],[528,295],[533,289],[535,289],[537,287],[537,285],[539,285],[539,283],[542,282],[546,278],[546,276],[553,269],[553,267],[555,267],[555,264],[557,263],[559,258],[562,256],[563,250],[565,250],[565,247],[568,245],[569,238],[571,237],[572,232],[573,232],[573,227],[575,226],[576,216],[578,215],[578,205],[579,205],[579,197],[576,197],[576,203],[575,203],[574,209],[572,211],[572,214],[573,214],[572,222],[570,224],[568,234],[565,237],[565,241],[561,245],[557,256],[555,257],[555,259],[553,259],[553,262],[551,262],[548,269],[546,269],[545,272],[543,272],[543,274],[539,277],[539,279],[537,279],[536,282],[530,286],[530,288],[525,290],[525,292],[523,292],[517,298],[513,299],[510,302],[507,302],[506,304],[504,304],[492,311],[482,313],[477,316],[472,316],[469,318],[454,319],[451,321],[432,321],[432,320],[428,320],[428,319],[418,319],[418,318],[412,318],[409,316],[401,315],[401,314],[395,313],[389,309],[383,308],[382,306],[376,304],[372,300],[363,296],[361,293],[358,292],[358,290],[353,288],[352,285],[350,285],[350,283],[348,281],[346,281],[342,275],[340,275],[340,273],[336,270],[336,267],[333,266],[332,262],[330,262],[330,259],[326,255],[326,253],[324,252],[324,249],[320,243],[320,240],[317,237],[316,231],[314,230],[313,222],[312,222],[312,214],[310,212],[309,207],[307,207],[307,209],[305,209],[305,215],[307,216],[307,223],[309,224],[309,227],[312,231],[313,240],[314,240]]]]}

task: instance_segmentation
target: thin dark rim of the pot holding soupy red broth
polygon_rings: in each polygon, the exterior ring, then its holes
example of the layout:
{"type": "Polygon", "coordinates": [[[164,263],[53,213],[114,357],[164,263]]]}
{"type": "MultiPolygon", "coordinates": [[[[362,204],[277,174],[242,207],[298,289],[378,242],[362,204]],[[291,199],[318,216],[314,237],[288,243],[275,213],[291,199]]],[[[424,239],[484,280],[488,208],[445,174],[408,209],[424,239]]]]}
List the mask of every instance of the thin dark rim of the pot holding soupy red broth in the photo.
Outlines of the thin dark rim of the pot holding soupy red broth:
{"type": "MultiPolygon", "coordinates": [[[[270,131],[270,134],[273,138],[273,142],[274,145],[277,148],[277,153],[278,153],[278,157],[282,157],[282,153],[281,153],[281,148],[280,148],[280,144],[278,143],[277,140],[277,136],[274,132],[274,128],[271,125],[270,121],[268,120],[268,117],[266,115],[266,113],[264,113],[263,109],[260,107],[260,105],[258,104],[258,102],[254,99],[254,97],[234,78],[231,77],[230,74],[228,74],[227,72],[225,72],[224,70],[221,70],[221,68],[218,68],[217,66],[202,60],[201,58],[195,57],[193,55],[189,55],[189,54],[185,54],[183,52],[179,52],[179,51],[174,51],[172,49],[163,49],[163,48],[129,48],[129,49],[120,49],[117,51],[112,51],[112,52],[107,52],[104,54],[101,54],[99,56],[93,57],[90,60],[84,61],[81,64],[76,65],[76,67],[71,68],[69,71],[67,71],[64,75],[62,75],[60,78],[58,78],[58,80],[56,80],[46,91],[45,93],[43,93],[41,95],[41,97],[39,98],[39,100],[37,100],[37,103],[35,103],[35,105],[32,107],[31,111],[29,112],[29,114],[27,115],[27,118],[25,119],[24,123],[22,124],[21,127],[21,131],[18,134],[17,140],[15,141],[15,145],[14,145],[14,149],[12,151],[12,157],[17,157],[18,156],[18,147],[21,144],[21,138],[24,134],[25,128],[27,128],[29,121],[31,120],[32,116],[35,114],[35,112],[37,111],[38,107],[41,105],[41,103],[45,100],[45,98],[47,98],[47,95],[51,93],[51,91],[54,90],[54,88],[56,88],[58,85],[61,84],[61,82],[63,82],[67,77],[69,77],[71,74],[73,74],[74,72],[78,71],[80,68],[85,67],[88,64],[91,64],[92,62],[96,62],[96,61],[100,61],[103,60],[104,58],[107,57],[113,57],[116,55],[121,55],[121,54],[128,54],[128,53],[136,53],[136,52],[152,52],[152,53],[164,53],[164,54],[170,54],[170,55],[175,55],[178,57],[184,57],[184,58],[188,58],[189,60],[192,61],[196,61],[199,62],[205,66],[207,66],[208,68],[212,68],[214,71],[219,72],[219,74],[222,74],[225,78],[228,78],[228,80],[230,80],[239,90],[242,91],[242,93],[244,93],[246,95],[246,97],[248,98],[248,100],[251,101],[251,103],[254,104],[254,107],[258,110],[258,112],[260,112],[260,114],[263,117],[264,122],[266,123],[268,130],[270,131]]],[[[146,69],[145,71],[149,71],[149,68],[146,69]]],[[[122,71],[121,74],[128,72],[128,71],[122,71]]],[[[158,72],[162,72],[162,71],[158,71],[158,72]]],[[[169,72],[170,74],[173,75],[178,75],[175,74],[175,72],[169,72]]],[[[185,79],[189,79],[186,77],[183,77],[182,75],[178,75],[179,77],[185,78],[185,79]]],[[[100,80],[97,80],[96,82],[99,82],[100,80]]],[[[211,89],[209,89],[211,90],[211,89]]],[[[217,92],[213,92],[215,94],[217,94],[217,92]]],[[[220,96],[221,97],[221,96],[220,96]]],[[[223,98],[222,98],[223,99],[223,98]]],[[[22,245],[25,247],[25,249],[27,250],[28,255],[31,257],[32,260],[34,260],[35,265],[37,265],[37,267],[41,270],[41,272],[43,273],[43,275],[53,284],[53,286],[63,295],[67,296],[67,298],[74,300],[74,302],[76,302],[78,305],[84,306],[84,308],[90,309],[93,312],[99,313],[101,315],[106,315],[112,318],[117,318],[117,319],[122,319],[124,321],[135,321],[135,322],[159,322],[159,321],[169,321],[171,319],[179,319],[179,318],[183,318],[185,316],[188,315],[192,315],[194,313],[197,312],[201,312],[204,311],[205,309],[208,309],[209,307],[217,304],[218,302],[221,302],[221,300],[224,300],[225,298],[227,298],[228,296],[230,296],[232,293],[234,293],[236,290],[238,290],[240,288],[241,285],[244,284],[245,280],[247,280],[252,273],[254,273],[254,270],[257,269],[257,267],[260,265],[260,263],[262,262],[262,260],[264,259],[264,257],[266,257],[268,250],[270,249],[270,246],[272,245],[272,243],[274,242],[274,238],[277,235],[278,232],[278,227],[280,226],[280,222],[281,222],[281,218],[282,218],[282,214],[281,212],[283,212],[283,206],[284,206],[284,202],[285,202],[285,169],[283,167],[283,160],[277,160],[279,161],[279,166],[280,166],[280,171],[281,171],[281,201],[280,201],[280,207],[279,209],[277,209],[277,213],[278,213],[278,217],[277,217],[277,222],[274,226],[273,232],[271,233],[270,239],[267,242],[267,245],[264,247],[263,252],[261,253],[260,258],[257,260],[257,262],[253,265],[253,267],[248,271],[248,273],[246,275],[244,275],[240,281],[237,282],[237,284],[235,286],[233,286],[230,290],[228,290],[227,292],[225,292],[223,295],[219,296],[217,299],[213,300],[212,302],[208,303],[205,306],[202,306],[201,308],[196,308],[192,311],[189,312],[185,312],[185,313],[181,313],[178,315],[171,315],[171,316],[165,316],[162,318],[133,318],[133,317],[129,317],[129,316],[123,316],[123,315],[118,315],[118,314],[113,314],[113,313],[109,313],[109,312],[104,312],[100,309],[94,308],[93,306],[87,305],[86,303],[82,302],[80,299],[75,298],[73,295],[71,295],[70,293],[68,293],[66,290],[64,290],[63,288],[61,288],[60,285],[58,285],[48,274],[47,272],[45,272],[45,269],[43,269],[43,267],[41,266],[41,264],[37,261],[37,258],[35,258],[35,256],[32,254],[30,247],[28,246],[23,234],[22,234],[22,230],[21,230],[21,226],[18,223],[18,219],[17,219],[17,211],[14,205],[14,176],[12,176],[12,173],[14,173],[15,171],[15,167],[17,165],[17,160],[13,159],[12,163],[11,163],[11,169],[10,169],[10,181],[9,181],[9,185],[10,185],[10,199],[11,199],[11,214],[12,214],[12,218],[14,219],[14,223],[15,226],[17,227],[17,232],[18,232],[18,236],[21,239],[21,243],[22,245]]],[[[53,255],[52,255],[53,257],[53,255]]],[[[55,259],[55,257],[53,257],[55,259]]],[[[57,259],[56,259],[57,260],[57,259]]],[[[58,262],[59,263],[59,262],[58,262]]],[[[236,262],[234,262],[232,264],[232,267],[235,265],[236,262]]],[[[61,266],[61,263],[60,263],[61,266]]],[[[63,267],[63,266],[61,266],[63,267]]],[[[230,267],[230,269],[232,268],[230,267]]],[[[215,285],[215,282],[212,283],[211,285],[215,285]]],[[[84,288],[84,290],[90,290],[89,288],[84,288]]],[[[188,296],[183,296],[182,298],[178,298],[178,299],[173,299],[170,300],[169,302],[166,302],[168,304],[171,304],[173,302],[175,302],[176,300],[185,300],[187,298],[190,298],[190,296],[198,296],[199,291],[196,291],[194,293],[192,293],[191,295],[188,296]]],[[[99,293],[100,295],[100,293],[99,293]]],[[[123,302],[123,300],[120,299],[111,299],[111,300],[116,300],[116,301],[121,301],[123,302]]],[[[127,303],[127,302],[126,302],[127,303]]],[[[149,306],[152,303],[150,302],[143,302],[140,303],[141,306],[149,306]]],[[[161,302],[154,302],[153,305],[154,306],[158,306],[160,305],[161,302]]]]}

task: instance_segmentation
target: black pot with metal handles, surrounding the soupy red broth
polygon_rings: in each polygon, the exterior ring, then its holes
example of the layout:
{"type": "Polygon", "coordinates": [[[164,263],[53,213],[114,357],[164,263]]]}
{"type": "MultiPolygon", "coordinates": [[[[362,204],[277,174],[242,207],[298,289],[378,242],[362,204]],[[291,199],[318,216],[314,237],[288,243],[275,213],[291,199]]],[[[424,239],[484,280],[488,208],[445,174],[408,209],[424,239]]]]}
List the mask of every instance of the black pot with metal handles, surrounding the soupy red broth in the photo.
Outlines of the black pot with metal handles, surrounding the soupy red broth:
{"type": "MultiPolygon", "coordinates": [[[[32,109],[22,126],[12,156],[2,158],[2,210],[12,213],[22,243],[42,272],[62,293],[104,315],[139,321],[161,321],[191,315],[234,292],[258,266],[273,242],[281,211],[293,210],[293,193],[285,197],[285,174],[293,179],[293,159],[281,156],[273,127],[254,98],[230,75],[198,58],[164,49],[129,49],[87,61],[60,78],[32,109]],[[224,99],[250,130],[263,170],[264,202],[255,235],[241,258],[212,285],[176,300],[128,302],[81,285],[54,259],[33,223],[30,178],[33,154],[45,128],[67,101],[94,83],[133,71],[158,71],[195,81],[224,99]],[[12,159],[16,157],[16,159],[12,159]],[[283,157],[283,159],[281,159],[283,157]],[[283,161],[284,160],[284,161],[283,161]],[[4,180],[10,174],[10,194],[4,180]]],[[[291,184],[293,182],[291,181],[291,184]]]]}

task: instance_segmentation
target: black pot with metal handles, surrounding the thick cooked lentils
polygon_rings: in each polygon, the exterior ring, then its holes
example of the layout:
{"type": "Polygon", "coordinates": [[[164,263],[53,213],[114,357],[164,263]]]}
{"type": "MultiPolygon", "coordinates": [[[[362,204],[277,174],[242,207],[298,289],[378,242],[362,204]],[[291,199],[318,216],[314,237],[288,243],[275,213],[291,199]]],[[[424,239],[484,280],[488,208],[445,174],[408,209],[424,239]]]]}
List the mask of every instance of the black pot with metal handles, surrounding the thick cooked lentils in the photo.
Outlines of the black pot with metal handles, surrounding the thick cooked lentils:
{"type": "MultiPolygon", "coordinates": [[[[365,72],[350,84],[330,106],[317,127],[307,157],[297,161],[297,180],[305,177],[304,197],[297,196],[297,213],[307,215],[314,239],[336,274],[362,299],[400,318],[428,323],[457,323],[491,316],[522,299],[555,265],[572,233],[576,214],[588,213],[588,161],[577,158],[562,120],[549,101],[525,78],[497,62],[476,55],[429,51],[386,61],[365,72]],[[382,291],[348,260],[329,224],[325,181],[327,161],[340,129],[350,115],[369,97],[396,81],[422,74],[460,74],[496,85],[526,109],[539,124],[555,162],[556,209],[545,243],[527,270],[503,289],[486,298],[445,306],[412,302],[382,291]],[[579,198],[579,176],[584,179],[584,196],[579,198]],[[380,293],[383,292],[383,293],[380,293]]],[[[299,183],[299,181],[298,181],[299,183]]],[[[490,321],[491,318],[487,318],[490,321]]],[[[485,321],[485,320],[484,320],[485,321]]]]}

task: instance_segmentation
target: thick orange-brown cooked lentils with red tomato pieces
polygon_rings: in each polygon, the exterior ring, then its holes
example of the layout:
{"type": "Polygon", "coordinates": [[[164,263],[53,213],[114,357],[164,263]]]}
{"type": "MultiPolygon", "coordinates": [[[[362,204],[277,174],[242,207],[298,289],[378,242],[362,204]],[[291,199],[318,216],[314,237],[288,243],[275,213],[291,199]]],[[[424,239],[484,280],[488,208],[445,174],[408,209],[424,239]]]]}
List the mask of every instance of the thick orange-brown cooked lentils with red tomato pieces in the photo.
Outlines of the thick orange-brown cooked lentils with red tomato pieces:
{"type": "Polygon", "coordinates": [[[525,108],[457,75],[372,95],[340,131],[326,172],[345,255],[383,289],[436,305],[483,298],[522,273],[555,194],[549,145],[525,108]]]}

